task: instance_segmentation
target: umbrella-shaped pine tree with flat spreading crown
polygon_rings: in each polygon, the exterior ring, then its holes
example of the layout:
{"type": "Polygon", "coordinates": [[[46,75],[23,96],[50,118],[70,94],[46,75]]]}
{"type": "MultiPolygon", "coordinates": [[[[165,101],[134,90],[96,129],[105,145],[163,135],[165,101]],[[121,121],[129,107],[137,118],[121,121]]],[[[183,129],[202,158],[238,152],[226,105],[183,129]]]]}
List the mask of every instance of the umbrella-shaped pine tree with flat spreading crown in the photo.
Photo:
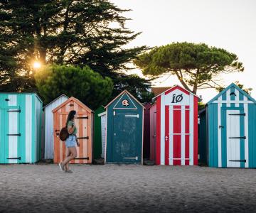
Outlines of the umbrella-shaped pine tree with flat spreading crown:
{"type": "Polygon", "coordinates": [[[242,62],[234,53],[204,43],[171,43],[139,55],[134,64],[144,75],[176,75],[183,87],[196,94],[200,88],[213,88],[211,83],[220,73],[242,72],[242,62]],[[192,86],[193,89],[189,87],[192,86]]]}

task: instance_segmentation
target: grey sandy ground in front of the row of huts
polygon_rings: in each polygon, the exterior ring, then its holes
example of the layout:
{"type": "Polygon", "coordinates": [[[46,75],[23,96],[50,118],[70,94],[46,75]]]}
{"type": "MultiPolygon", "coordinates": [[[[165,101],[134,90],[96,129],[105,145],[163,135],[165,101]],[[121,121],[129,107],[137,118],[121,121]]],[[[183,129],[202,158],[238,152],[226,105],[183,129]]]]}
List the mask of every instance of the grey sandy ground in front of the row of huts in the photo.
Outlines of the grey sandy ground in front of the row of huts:
{"type": "Polygon", "coordinates": [[[0,165],[0,212],[256,212],[256,170],[0,165]]]}

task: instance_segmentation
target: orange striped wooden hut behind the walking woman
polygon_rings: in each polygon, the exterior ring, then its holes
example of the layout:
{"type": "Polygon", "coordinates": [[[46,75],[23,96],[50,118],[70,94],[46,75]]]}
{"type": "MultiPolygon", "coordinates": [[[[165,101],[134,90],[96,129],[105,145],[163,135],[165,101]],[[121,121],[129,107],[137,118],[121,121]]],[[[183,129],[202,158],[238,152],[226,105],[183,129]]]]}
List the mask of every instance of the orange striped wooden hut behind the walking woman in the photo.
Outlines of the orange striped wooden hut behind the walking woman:
{"type": "Polygon", "coordinates": [[[63,104],[53,109],[53,132],[54,132],[54,163],[60,163],[65,158],[65,143],[58,137],[60,129],[65,126],[68,113],[77,111],[75,125],[78,127],[77,147],[78,156],[70,163],[92,163],[92,136],[93,136],[93,111],[74,97],[70,97],[63,104]]]}

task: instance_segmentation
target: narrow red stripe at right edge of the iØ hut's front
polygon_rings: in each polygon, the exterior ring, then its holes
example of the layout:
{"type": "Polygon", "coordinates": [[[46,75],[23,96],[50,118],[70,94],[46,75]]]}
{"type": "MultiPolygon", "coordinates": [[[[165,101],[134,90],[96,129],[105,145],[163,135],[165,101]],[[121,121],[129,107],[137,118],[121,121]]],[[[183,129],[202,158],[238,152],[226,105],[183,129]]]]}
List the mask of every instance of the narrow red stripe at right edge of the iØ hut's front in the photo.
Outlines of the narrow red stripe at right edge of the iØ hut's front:
{"type": "Polygon", "coordinates": [[[198,97],[193,99],[193,164],[198,165],[198,97]]]}

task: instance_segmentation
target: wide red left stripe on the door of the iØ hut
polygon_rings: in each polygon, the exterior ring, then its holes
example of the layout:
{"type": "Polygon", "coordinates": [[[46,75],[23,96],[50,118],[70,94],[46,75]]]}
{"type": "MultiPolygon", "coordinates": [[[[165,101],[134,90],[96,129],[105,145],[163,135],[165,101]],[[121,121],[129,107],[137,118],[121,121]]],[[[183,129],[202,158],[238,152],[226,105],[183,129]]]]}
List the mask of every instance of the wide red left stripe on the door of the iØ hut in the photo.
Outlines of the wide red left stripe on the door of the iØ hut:
{"type": "MultiPolygon", "coordinates": [[[[174,158],[181,158],[181,106],[174,106],[174,158]],[[176,109],[176,110],[175,110],[176,109]]],[[[181,165],[181,160],[174,160],[174,165],[181,165]]]]}

